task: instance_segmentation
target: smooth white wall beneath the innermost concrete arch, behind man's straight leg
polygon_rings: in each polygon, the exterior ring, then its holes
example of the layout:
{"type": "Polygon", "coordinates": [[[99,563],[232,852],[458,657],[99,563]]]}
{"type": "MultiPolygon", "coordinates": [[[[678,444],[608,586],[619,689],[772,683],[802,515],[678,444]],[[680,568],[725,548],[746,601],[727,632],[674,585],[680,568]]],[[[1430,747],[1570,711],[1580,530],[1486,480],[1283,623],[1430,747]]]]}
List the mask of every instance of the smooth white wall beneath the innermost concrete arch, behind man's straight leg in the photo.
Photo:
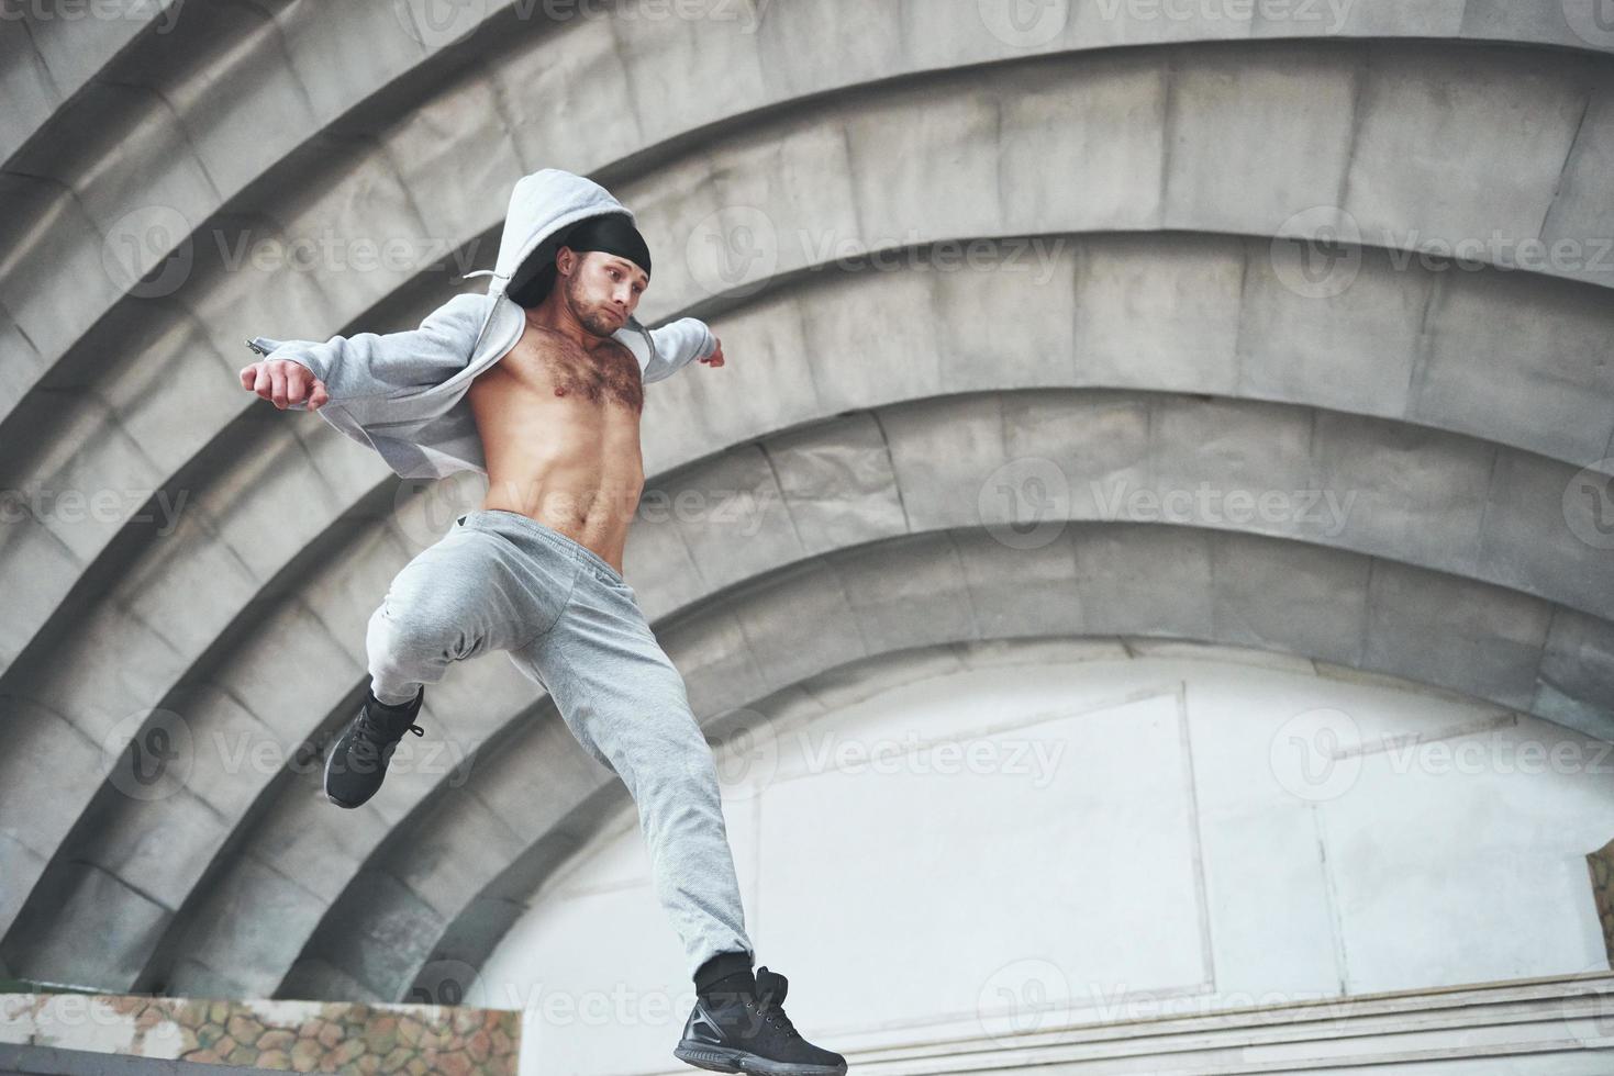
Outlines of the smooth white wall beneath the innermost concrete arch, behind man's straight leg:
{"type": "MultiPolygon", "coordinates": [[[[1235,649],[1018,642],[804,681],[744,728],[718,774],[757,960],[852,1063],[1608,970],[1585,853],[1614,757],[1496,707],[1235,649]]],[[[523,1071],[663,1066],[692,1003],[663,920],[623,808],[481,968],[523,1010],[523,1071]]]]}

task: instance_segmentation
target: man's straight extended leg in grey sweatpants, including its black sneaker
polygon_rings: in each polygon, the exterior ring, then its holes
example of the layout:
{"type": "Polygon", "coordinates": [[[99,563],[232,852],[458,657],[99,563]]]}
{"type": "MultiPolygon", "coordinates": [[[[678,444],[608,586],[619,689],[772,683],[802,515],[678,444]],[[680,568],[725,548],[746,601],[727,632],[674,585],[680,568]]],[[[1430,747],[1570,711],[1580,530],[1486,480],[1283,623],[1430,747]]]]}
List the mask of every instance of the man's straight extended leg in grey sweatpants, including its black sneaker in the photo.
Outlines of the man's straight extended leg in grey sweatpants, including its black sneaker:
{"type": "Polygon", "coordinates": [[[751,965],[739,879],[728,847],[712,749],[684,681],[650,631],[633,587],[586,547],[537,523],[484,513],[539,561],[576,565],[555,619],[510,649],[589,755],[621,778],[639,808],[655,895],[684,945],[696,1005],[673,1055],[721,1073],[844,1076],[846,1058],[807,1042],[784,1015],[786,979],[751,965]]]}

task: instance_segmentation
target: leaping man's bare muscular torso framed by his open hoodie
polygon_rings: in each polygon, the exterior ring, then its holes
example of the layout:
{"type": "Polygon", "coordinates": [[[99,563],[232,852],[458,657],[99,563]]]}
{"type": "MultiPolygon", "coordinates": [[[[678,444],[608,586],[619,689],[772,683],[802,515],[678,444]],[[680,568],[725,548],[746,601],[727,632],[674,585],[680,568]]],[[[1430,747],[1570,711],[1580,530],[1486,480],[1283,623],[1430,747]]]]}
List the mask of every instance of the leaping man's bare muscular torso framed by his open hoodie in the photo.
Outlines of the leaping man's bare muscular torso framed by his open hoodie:
{"type": "Polygon", "coordinates": [[[644,490],[644,384],[633,353],[529,324],[466,395],[487,466],[481,507],[560,531],[620,573],[644,490]]]}

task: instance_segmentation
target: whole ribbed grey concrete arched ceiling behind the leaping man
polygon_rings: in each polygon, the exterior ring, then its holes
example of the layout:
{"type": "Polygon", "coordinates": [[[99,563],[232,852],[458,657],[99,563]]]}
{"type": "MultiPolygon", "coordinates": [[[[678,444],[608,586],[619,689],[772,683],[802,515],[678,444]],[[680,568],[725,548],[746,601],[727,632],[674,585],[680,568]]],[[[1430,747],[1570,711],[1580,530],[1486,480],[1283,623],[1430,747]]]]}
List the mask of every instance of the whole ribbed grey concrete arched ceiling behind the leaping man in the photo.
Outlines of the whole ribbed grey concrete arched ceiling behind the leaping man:
{"type": "Polygon", "coordinates": [[[1614,31],[1575,0],[1406,6],[1015,31],[993,0],[450,26],[429,0],[131,2],[77,48],[0,26],[0,489],[39,507],[0,547],[8,970],[402,997],[475,965],[617,800],[502,660],[428,702],[466,766],[320,797],[308,744],[363,689],[363,621],[478,487],[400,486],[234,377],[249,336],[416,323],[544,166],[639,213],[641,313],[704,316],[733,358],[649,394],[646,466],[754,518],[647,519],[626,560],[704,719],[910,647],[1123,636],[1614,736],[1614,574],[1575,495],[1614,455],[1614,31]],[[713,223],[760,256],[715,261],[713,223]],[[1323,224],[1356,242],[1319,279],[1273,236],[1323,224]],[[418,256],[231,261],[321,237],[418,256]],[[1464,239],[1475,265],[1409,261],[1464,239]],[[943,263],[970,240],[985,263],[943,263]],[[1017,547],[989,490],[1044,463],[1057,536],[1017,547]],[[1104,511],[1201,482],[1291,500],[1104,511]],[[103,761],[153,729],[189,737],[155,792],[103,761]]]}

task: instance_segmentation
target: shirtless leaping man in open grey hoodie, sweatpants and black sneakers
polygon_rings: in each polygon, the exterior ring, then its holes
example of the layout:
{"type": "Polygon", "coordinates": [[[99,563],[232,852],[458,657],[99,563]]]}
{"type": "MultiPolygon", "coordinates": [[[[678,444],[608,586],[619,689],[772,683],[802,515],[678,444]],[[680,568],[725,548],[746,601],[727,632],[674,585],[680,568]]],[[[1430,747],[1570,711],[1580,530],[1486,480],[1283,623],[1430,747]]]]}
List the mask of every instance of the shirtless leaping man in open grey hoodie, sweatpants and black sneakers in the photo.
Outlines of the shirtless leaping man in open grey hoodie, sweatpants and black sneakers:
{"type": "Polygon", "coordinates": [[[487,295],[412,332],[255,337],[242,387],[316,410],[404,478],[475,468],[481,508],[399,571],[370,618],[370,686],[326,761],[326,795],[360,807],[452,661],[504,650],[578,742],[628,786],[696,1007],[675,1055],[715,1071],[839,1076],[784,1015],[784,976],[752,973],[717,768],[683,678],[621,578],[644,487],[644,384],[723,365],[705,324],[646,331],[650,252],[604,187],[560,169],[516,182],[487,295]]]}

